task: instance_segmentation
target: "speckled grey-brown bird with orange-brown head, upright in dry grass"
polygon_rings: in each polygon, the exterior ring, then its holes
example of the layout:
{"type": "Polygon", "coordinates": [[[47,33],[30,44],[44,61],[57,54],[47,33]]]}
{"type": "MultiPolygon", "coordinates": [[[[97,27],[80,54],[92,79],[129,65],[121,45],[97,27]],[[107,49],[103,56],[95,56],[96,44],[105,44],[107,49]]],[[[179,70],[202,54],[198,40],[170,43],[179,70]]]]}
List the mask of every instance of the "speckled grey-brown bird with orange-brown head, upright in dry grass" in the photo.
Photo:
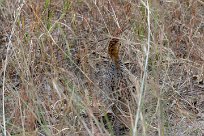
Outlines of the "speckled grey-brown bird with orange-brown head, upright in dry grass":
{"type": "MultiPolygon", "coordinates": [[[[129,80],[130,71],[125,67],[120,52],[121,41],[119,38],[111,38],[107,44],[107,57],[98,65],[98,85],[101,100],[105,103],[109,114],[113,116],[113,130],[116,136],[121,135],[124,129],[130,130],[130,109],[133,97],[132,81],[129,80]]],[[[96,77],[97,77],[96,76],[96,77]]],[[[134,106],[132,106],[134,107],[134,106]]]]}

